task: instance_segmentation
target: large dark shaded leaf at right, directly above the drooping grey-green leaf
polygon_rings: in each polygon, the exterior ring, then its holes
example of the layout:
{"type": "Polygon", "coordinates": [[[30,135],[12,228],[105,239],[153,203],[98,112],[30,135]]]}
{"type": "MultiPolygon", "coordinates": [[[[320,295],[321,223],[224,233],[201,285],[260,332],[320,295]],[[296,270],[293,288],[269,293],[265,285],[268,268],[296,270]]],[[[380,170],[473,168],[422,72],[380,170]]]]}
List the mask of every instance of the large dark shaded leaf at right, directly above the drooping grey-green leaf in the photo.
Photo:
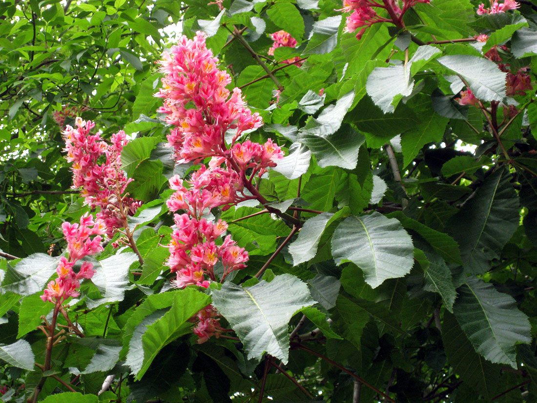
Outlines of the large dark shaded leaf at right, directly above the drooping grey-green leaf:
{"type": "Polygon", "coordinates": [[[489,262],[499,257],[518,227],[518,196],[510,177],[505,169],[494,172],[449,222],[449,233],[459,242],[462,261],[471,273],[489,270],[489,262]]]}

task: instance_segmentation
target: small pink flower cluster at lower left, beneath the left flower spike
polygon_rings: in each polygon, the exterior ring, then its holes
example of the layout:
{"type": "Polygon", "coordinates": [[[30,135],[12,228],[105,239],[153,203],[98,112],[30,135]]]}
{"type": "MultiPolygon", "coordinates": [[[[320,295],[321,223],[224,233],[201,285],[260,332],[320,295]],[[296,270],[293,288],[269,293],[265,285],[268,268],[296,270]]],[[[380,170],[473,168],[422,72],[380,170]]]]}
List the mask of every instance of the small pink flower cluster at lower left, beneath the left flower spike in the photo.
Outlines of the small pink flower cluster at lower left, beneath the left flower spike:
{"type": "Polygon", "coordinates": [[[78,297],[79,280],[93,277],[93,264],[90,262],[83,262],[76,273],[73,268],[84,256],[95,255],[103,250],[100,235],[105,233],[105,223],[99,219],[93,221],[92,215],[85,214],[81,217],[80,224],[64,222],[62,229],[67,240],[69,259],[63,256],[60,258],[56,268],[58,278],[48,283],[41,296],[43,301],[57,304],[62,304],[69,297],[78,297]]]}

